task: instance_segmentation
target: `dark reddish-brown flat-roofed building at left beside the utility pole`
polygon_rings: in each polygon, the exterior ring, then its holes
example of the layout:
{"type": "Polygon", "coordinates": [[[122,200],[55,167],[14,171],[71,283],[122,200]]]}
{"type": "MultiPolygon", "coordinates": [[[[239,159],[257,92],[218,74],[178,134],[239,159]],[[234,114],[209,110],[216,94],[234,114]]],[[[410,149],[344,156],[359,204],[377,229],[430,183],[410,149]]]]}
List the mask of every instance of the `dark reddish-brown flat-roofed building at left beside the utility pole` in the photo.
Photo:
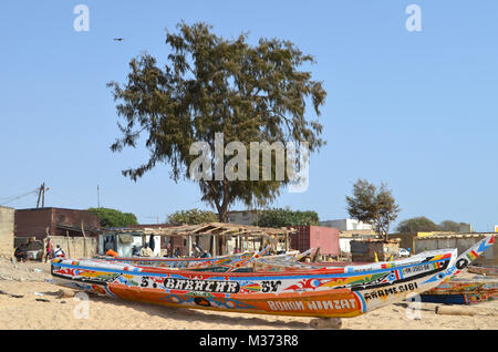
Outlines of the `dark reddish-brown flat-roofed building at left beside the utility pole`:
{"type": "Polygon", "coordinates": [[[100,219],[89,210],[64,208],[17,209],[15,237],[43,240],[48,235],[96,237],[100,219]]]}

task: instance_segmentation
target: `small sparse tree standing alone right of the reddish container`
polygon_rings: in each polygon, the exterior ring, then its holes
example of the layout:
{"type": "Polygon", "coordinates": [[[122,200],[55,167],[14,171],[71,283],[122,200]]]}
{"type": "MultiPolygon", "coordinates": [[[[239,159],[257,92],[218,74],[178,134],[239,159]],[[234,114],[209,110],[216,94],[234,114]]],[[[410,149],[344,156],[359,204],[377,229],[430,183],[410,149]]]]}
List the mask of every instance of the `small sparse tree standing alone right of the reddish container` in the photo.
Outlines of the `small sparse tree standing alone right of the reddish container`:
{"type": "Polygon", "coordinates": [[[387,240],[390,225],[397,218],[401,208],[386,184],[382,183],[377,188],[365,179],[359,179],[353,185],[352,197],[346,196],[346,203],[350,217],[371,224],[375,232],[387,240]]]}

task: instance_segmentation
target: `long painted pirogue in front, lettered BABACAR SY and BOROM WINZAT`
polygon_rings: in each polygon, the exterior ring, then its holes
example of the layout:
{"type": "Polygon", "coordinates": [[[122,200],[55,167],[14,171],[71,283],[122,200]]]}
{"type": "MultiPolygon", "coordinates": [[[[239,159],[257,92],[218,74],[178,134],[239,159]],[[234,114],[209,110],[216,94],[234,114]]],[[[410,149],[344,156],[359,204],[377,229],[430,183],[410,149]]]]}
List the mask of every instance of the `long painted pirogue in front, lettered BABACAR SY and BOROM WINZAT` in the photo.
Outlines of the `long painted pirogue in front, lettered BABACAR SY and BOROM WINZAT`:
{"type": "Polygon", "coordinates": [[[231,312],[355,317],[437,287],[488,249],[487,237],[456,257],[436,250],[416,260],[282,272],[196,272],[123,262],[54,259],[58,284],[123,300],[231,312]]]}

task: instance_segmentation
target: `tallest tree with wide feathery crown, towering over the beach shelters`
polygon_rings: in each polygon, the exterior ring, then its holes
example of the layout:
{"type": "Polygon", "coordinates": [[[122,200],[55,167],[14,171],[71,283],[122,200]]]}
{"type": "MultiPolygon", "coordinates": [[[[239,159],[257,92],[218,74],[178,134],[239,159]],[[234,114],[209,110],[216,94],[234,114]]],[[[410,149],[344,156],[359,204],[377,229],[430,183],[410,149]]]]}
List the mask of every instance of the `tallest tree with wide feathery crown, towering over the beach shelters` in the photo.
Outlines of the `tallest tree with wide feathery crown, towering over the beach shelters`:
{"type": "MultiPolygon", "coordinates": [[[[149,151],[146,163],[123,170],[123,175],[136,180],[165,163],[172,166],[175,182],[188,178],[189,166],[197,158],[190,155],[190,147],[203,142],[214,151],[217,133],[222,133],[225,144],[238,141],[247,151],[250,142],[305,141],[310,153],[324,145],[318,116],[326,93],[321,82],[312,80],[311,72],[302,70],[314,63],[311,55],[279,39],[260,39],[257,45],[247,42],[246,33],[225,39],[205,23],[181,22],[177,29],[177,33],[166,33],[170,53],[164,68],[144,53],[131,61],[124,85],[108,83],[118,102],[117,114],[125,122],[118,124],[122,136],[112,151],[136,147],[142,134],[149,151]],[[307,104],[313,107],[315,118],[309,117],[307,104]]],[[[215,165],[216,159],[211,163],[215,165]]],[[[237,164],[234,169],[247,176],[249,166],[237,164]]],[[[262,168],[258,172],[261,174],[262,168]]],[[[229,179],[224,175],[196,182],[201,200],[226,221],[234,203],[267,205],[281,187],[293,182],[289,175],[277,179],[273,166],[269,180],[229,179]]]]}

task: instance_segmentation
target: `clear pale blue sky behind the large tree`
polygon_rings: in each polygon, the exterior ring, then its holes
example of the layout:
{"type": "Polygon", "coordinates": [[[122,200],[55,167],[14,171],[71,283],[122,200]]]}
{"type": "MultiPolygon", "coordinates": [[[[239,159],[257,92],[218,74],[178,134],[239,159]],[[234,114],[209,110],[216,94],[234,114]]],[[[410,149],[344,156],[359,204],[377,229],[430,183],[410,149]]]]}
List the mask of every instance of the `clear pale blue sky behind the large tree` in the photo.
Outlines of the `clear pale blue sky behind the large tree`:
{"type": "MultiPolygon", "coordinates": [[[[106,82],[124,82],[144,51],[164,62],[164,29],[181,20],[227,38],[248,31],[255,43],[290,40],[317,59],[328,145],[311,159],[308,190],[283,191],[273,206],[345,218],[345,196],[366,178],[387,183],[398,220],[427,216],[481,231],[498,224],[496,0],[2,1],[0,204],[45,182],[45,206],[95,207],[100,185],[102,206],[141,222],[206,208],[197,185],[175,184],[168,166],[137,183],[123,177],[146,159],[142,145],[110,149],[118,130],[106,82]],[[87,32],[73,27],[80,3],[90,9],[87,32]],[[405,27],[409,4],[422,10],[422,31],[405,27]]],[[[29,195],[6,206],[35,203],[29,195]]]]}

